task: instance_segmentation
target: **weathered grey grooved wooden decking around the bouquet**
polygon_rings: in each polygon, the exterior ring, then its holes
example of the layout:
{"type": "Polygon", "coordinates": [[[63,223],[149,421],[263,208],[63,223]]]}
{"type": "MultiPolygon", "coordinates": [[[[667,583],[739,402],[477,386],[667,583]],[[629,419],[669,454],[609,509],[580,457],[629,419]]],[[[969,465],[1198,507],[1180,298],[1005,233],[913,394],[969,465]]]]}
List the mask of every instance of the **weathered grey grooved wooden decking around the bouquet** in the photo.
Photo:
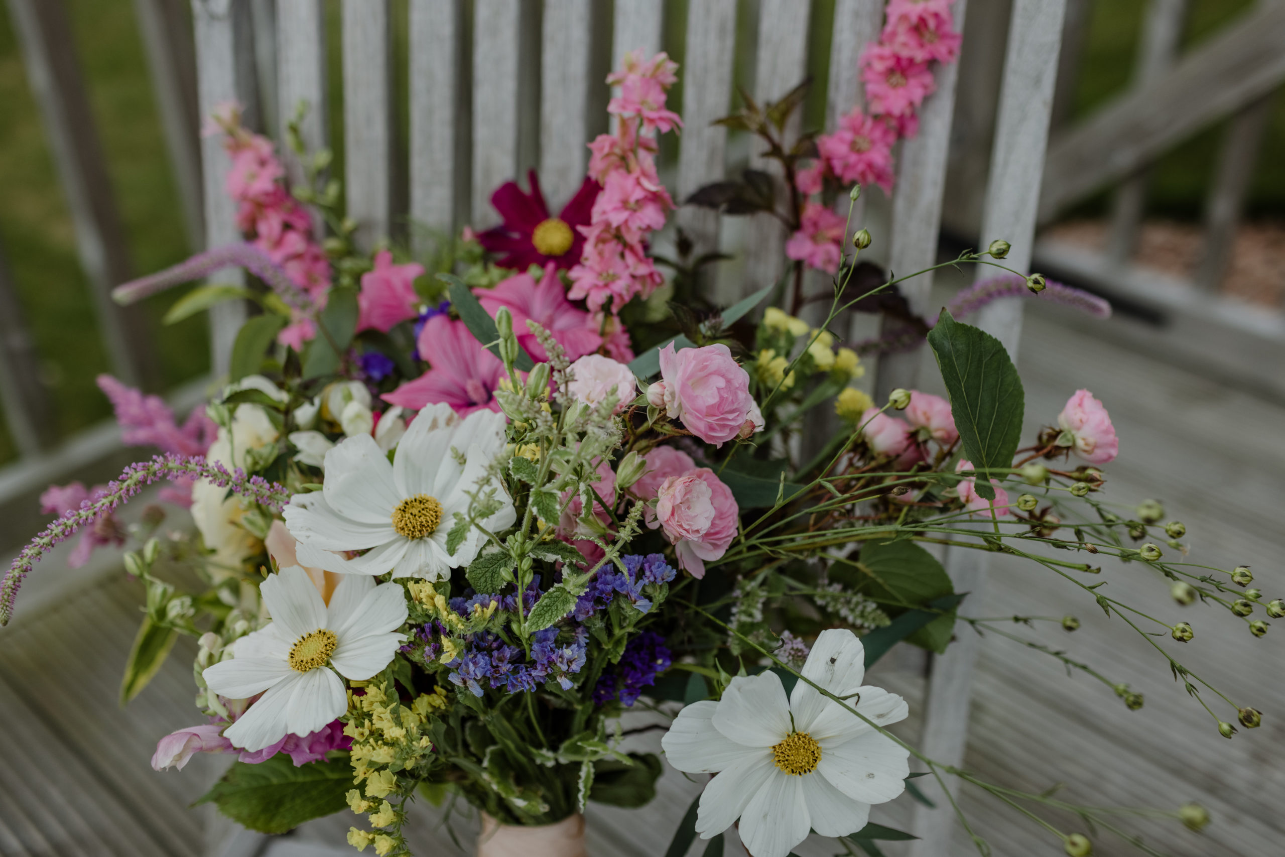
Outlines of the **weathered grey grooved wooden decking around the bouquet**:
{"type": "MultiPolygon", "coordinates": [[[[1127,324],[1127,322],[1113,322],[1127,324]]],[[[1192,561],[1241,563],[1270,596],[1285,592],[1279,542],[1285,535],[1285,409],[1259,401],[1115,344],[1087,338],[1056,312],[1028,314],[1019,360],[1027,382],[1031,427],[1051,423],[1077,387],[1108,406],[1121,436],[1121,459],[1110,465],[1109,499],[1133,504],[1165,500],[1169,517],[1187,524],[1192,561]]],[[[8,535],[8,533],[6,533],[8,535]]],[[[55,576],[51,563],[36,574],[55,576]]],[[[989,635],[982,642],[966,766],[983,779],[1042,791],[1061,784],[1061,799],[1088,804],[1176,808],[1207,806],[1213,822],[1194,834],[1173,821],[1123,818],[1156,851],[1174,857],[1281,853],[1285,768],[1273,750],[1285,740],[1285,623],[1255,640],[1210,606],[1180,608],[1167,583],[1140,565],[1105,565],[1108,590],[1126,601],[1146,600],[1165,621],[1191,622],[1186,646],[1168,637],[1198,675],[1208,676],[1239,704],[1264,712],[1263,726],[1222,739],[1213,720],[1176,685],[1160,655],[1092,600],[1040,567],[1000,558],[983,595],[988,615],[1074,613],[1083,627],[1067,635],[1056,626],[1014,630],[1065,649],[1114,681],[1146,695],[1131,712],[1100,682],[1067,676],[1049,655],[989,635]]],[[[1096,579],[1094,582],[1096,582],[1096,579]]],[[[80,583],[39,613],[0,632],[0,854],[99,857],[190,856],[206,851],[208,813],[189,804],[218,772],[220,759],[198,757],[182,772],[148,766],[155,740],[194,722],[193,651],[180,642],[175,657],[127,708],[116,704],[121,667],[137,621],[136,585],[112,574],[80,583]]],[[[961,632],[970,632],[962,630],[961,632]]],[[[907,696],[923,696],[923,658],[889,657],[871,676],[907,696]]],[[[1227,717],[1227,713],[1223,712],[1227,717]]],[[[1228,717],[1230,720],[1230,717],[1228,717]]],[[[914,739],[912,716],[902,734],[914,739]]],[[[651,739],[655,744],[655,739],[651,739]]],[[[663,854],[699,784],[668,770],[657,800],[639,812],[591,807],[594,854],[663,854]]],[[[1001,857],[1059,854],[1060,844],[1011,809],[965,789],[964,811],[1001,857]]],[[[902,798],[876,809],[875,820],[905,825],[911,804],[902,798]]],[[[415,825],[416,853],[459,852],[430,809],[415,825]]],[[[306,825],[289,838],[249,840],[238,853],[252,857],[320,857],[351,853],[343,815],[306,825]]],[[[1076,830],[1074,818],[1058,818],[1076,830]]],[[[461,842],[472,827],[457,821],[461,842]]],[[[702,853],[698,842],[691,853],[702,853]]],[[[802,857],[838,851],[808,842],[802,857]]],[[[900,853],[884,847],[889,857],[900,853]]],[[[730,847],[729,856],[741,853],[730,847]]],[[[975,853],[962,831],[953,854],[975,853]]],[[[1140,853],[1104,835],[1100,856],[1140,853]]]]}

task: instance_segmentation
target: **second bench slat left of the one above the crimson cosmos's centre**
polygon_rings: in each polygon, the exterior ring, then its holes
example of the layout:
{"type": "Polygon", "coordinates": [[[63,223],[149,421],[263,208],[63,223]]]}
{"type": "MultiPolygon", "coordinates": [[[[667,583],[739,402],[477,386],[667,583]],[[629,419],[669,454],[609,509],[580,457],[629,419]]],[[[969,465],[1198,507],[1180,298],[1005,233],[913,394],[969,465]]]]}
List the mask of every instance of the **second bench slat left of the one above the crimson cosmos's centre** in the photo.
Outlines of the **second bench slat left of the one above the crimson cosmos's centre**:
{"type": "MultiPolygon", "coordinates": [[[[455,224],[460,12],[460,0],[410,4],[410,215],[439,233],[455,224]]],[[[416,251],[425,238],[412,225],[416,251]]]]}

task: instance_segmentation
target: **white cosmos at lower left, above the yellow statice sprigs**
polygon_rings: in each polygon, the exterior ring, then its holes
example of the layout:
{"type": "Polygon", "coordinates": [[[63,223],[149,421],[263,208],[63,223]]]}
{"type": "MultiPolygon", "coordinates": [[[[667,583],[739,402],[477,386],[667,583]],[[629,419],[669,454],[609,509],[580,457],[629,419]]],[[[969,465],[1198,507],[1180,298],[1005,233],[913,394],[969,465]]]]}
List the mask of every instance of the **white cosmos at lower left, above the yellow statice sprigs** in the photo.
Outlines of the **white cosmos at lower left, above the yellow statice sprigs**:
{"type": "Polygon", "coordinates": [[[365,681],[388,666],[406,639],[393,633],[406,622],[406,595],[398,583],[375,586],[369,577],[348,576],[326,606],[307,572],[292,565],[269,576],[260,592],[272,622],[236,640],[231,660],[202,673],[222,696],[263,694],[224,732],[247,750],[261,750],[287,734],[308,735],[334,721],[348,708],[335,671],[365,681]]]}

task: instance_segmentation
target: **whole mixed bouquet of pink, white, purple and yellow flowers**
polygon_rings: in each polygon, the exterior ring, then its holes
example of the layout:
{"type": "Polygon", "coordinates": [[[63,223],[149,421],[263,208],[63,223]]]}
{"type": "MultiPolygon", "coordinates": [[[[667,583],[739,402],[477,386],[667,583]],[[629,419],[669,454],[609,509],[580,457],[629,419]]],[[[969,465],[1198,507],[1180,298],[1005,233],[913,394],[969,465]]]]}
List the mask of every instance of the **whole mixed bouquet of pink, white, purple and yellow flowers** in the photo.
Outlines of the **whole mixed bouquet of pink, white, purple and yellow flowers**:
{"type": "MultiPolygon", "coordinates": [[[[736,824],[754,857],[785,857],[810,831],[878,854],[878,840],[907,834],[870,824],[871,806],[923,799],[924,775],[1118,831],[1108,811],[1001,789],[889,730],[907,705],[864,684],[873,663],[898,642],[943,651],[957,621],[997,630],[957,615],[964,595],[928,547],[1025,558],[1178,642],[1190,624],[1151,619],[1086,576],[1104,558],[1145,564],[1168,581],[1164,597],[1222,606],[1259,636],[1266,623],[1248,617],[1282,606],[1244,588],[1245,568],[1181,561],[1185,529],[1154,501],[1104,500],[1118,441],[1088,391],[1023,443],[1016,370],[998,340],[956,320],[1005,297],[1099,315],[1101,301],[1004,269],[924,320],[897,290],[907,276],[858,262],[873,239],[858,230],[848,243],[855,224],[835,211],[851,211],[860,184],[892,181],[891,148],[914,134],[929,63],[957,49],[948,17],[902,19],[902,6],[937,4],[889,6],[865,60],[870,116],[788,140],[795,90],[747,99],[725,121],[758,135],[785,181],[747,172],[690,204],[775,213],[793,260],[730,307],[702,290],[711,260],[681,234],[675,258],[653,252],[675,208],[657,137],[681,125],[666,109],[677,68],[663,54],[631,55],[609,78],[617,130],[591,144],[590,175],[559,216],[532,175],[526,191],[496,190],[500,226],[420,261],[355,245],[328,153],[293,136],[307,181],[292,193],[274,145],[234,108],[220,113],[245,242],[118,296],[238,265],[248,285],[199,287],[171,316],[225,299],[261,312],[236,337],[227,383],[181,427],[158,398],[100,379],[126,441],[163,455],[93,491],[50,490],[60,517],[15,560],[0,619],[53,543],[84,529],[82,559],[136,540],[125,565],[146,613],[122,698],[177,635],[199,640],[199,722],[161,738],[153,766],[231,754],[204,798],[224,813],[283,833],[352,812],[348,842],[377,854],[409,853],[416,799],[472,807],[483,842],[541,829],[559,853],[582,853],[586,804],[641,807],[663,771],[657,754],[622,748],[626,714],[634,730],[667,730],[669,766],[713,775],[671,853],[736,824]],[[820,302],[806,267],[830,275],[820,302]],[[799,317],[816,307],[812,322],[799,317]],[[903,328],[844,346],[839,321],[855,308],[903,328]],[[862,392],[864,355],[925,342],[948,398],[862,392]],[[808,428],[824,412],[838,430],[808,428]],[[121,502],[162,481],[161,499],[190,511],[190,536],[162,535],[159,506],[116,522],[121,502]]],[[[1006,252],[996,242],[951,263],[1002,269],[1006,252]]],[[[1232,720],[1258,726],[1258,712],[1160,651],[1201,705],[1207,693],[1230,705],[1226,718],[1207,705],[1223,735],[1232,720]]],[[[1207,820],[1194,804],[1168,815],[1207,820]]],[[[1067,853],[1090,853],[1083,834],[1045,826],[1067,853]]]]}

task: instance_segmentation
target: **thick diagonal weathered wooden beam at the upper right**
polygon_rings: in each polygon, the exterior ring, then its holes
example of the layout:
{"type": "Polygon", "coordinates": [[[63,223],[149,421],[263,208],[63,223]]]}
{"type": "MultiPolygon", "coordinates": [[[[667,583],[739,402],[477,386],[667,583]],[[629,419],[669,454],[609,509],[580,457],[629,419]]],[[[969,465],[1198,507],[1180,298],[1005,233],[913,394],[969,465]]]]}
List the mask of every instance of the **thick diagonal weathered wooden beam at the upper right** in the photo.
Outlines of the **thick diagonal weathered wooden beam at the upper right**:
{"type": "Polygon", "coordinates": [[[1049,145],[1040,222],[1273,90],[1285,80],[1282,42],[1285,4],[1263,4],[1189,51],[1162,78],[1060,132],[1049,145]]]}

